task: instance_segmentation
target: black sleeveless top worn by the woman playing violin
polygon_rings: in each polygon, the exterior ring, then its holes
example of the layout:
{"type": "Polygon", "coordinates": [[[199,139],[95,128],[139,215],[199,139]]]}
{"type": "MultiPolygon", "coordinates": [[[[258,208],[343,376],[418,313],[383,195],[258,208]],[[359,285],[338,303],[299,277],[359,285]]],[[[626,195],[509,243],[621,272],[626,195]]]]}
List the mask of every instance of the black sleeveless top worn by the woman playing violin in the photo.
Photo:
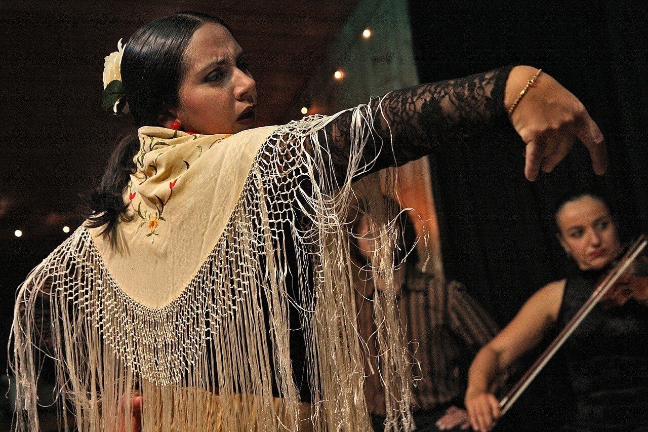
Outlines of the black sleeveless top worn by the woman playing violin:
{"type": "MultiPolygon", "coordinates": [[[[594,290],[601,272],[567,279],[559,326],[564,327],[594,290]]],[[[629,300],[594,307],[562,348],[576,409],[566,430],[648,431],[648,307],[629,300]]]]}

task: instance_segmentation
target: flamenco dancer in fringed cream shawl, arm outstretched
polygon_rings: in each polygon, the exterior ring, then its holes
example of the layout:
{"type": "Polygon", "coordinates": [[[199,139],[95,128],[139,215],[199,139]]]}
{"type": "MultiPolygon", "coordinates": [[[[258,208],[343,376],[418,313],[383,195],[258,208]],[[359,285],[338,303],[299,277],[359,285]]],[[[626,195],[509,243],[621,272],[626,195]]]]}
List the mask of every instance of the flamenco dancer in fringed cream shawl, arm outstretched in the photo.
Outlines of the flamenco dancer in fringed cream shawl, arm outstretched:
{"type": "Polygon", "coordinates": [[[139,129],[117,143],[87,222],[19,289],[17,429],[38,430],[38,373],[51,357],[64,429],[370,430],[347,272],[346,212],[360,199],[380,233],[372,271],[388,281],[372,298],[386,428],[411,430],[385,259],[396,226],[376,176],[502,123],[522,138],[512,152],[526,145],[529,180],[576,137],[596,173],[607,165],[583,104],[529,66],[262,128],[245,53],[213,16],[156,19],[106,66],[104,106],[139,129]]]}

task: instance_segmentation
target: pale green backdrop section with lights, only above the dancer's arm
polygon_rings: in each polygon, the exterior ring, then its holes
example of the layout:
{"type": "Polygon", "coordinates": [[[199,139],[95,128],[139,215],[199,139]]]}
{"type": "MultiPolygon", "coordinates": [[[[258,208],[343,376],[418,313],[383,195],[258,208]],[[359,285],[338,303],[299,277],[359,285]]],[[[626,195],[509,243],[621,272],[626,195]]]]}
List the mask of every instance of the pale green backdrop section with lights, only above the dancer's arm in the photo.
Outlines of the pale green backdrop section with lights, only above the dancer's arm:
{"type": "Polygon", "coordinates": [[[315,108],[313,114],[332,114],[418,83],[407,1],[364,0],[288,114],[294,118],[303,106],[315,108]],[[362,37],[364,29],[371,30],[369,39],[362,37]],[[341,80],[333,77],[338,69],[344,73],[341,80]]]}

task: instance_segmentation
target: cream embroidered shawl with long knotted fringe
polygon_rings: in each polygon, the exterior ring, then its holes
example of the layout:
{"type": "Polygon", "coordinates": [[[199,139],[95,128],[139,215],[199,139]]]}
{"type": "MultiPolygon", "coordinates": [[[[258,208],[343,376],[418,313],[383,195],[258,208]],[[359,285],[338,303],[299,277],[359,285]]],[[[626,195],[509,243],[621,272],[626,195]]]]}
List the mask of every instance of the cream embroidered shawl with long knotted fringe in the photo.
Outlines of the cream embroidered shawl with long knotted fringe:
{"type": "Polygon", "coordinates": [[[391,265],[397,230],[378,174],[349,180],[371,167],[361,154],[374,145],[373,115],[367,106],[353,112],[342,184],[318,135],[335,116],[234,136],[141,128],[138,171],[124,193],[131,219],[119,224],[115,244],[82,226],[21,285],[12,328],[25,410],[17,427],[38,428],[37,318],[46,300],[61,406],[80,430],[130,430],[137,391],[145,431],[369,430],[347,221],[349,204],[364,199],[380,233],[373,272],[392,281],[371,299],[387,426],[410,429],[391,265]],[[292,267],[284,241],[297,251],[292,267]],[[290,269],[301,298],[286,286],[290,269]],[[301,308],[308,410],[293,379],[289,303],[301,308]]]}

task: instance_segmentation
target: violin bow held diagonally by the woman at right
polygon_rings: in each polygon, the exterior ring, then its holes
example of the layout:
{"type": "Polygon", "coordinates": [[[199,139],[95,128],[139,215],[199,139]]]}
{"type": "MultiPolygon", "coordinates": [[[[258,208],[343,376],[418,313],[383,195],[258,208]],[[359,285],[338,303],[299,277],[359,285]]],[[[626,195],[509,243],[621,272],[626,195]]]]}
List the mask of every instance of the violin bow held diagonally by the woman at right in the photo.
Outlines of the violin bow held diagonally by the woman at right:
{"type": "Polygon", "coordinates": [[[605,279],[603,279],[603,281],[599,283],[599,285],[596,287],[596,290],[594,290],[594,293],[592,293],[585,304],[581,306],[581,309],[579,309],[578,312],[575,313],[573,318],[562,329],[559,335],[555,339],[553,339],[553,342],[551,342],[548,348],[544,350],[542,355],[540,355],[535,363],[533,363],[533,366],[531,366],[531,368],[527,370],[526,374],[524,374],[524,376],[520,378],[520,381],[516,383],[515,387],[513,387],[513,389],[511,389],[511,391],[509,391],[509,393],[500,401],[500,410],[502,411],[502,415],[509,411],[511,405],[513,405],[513,403],[518,400],[522,392],[524,392],[524,390],[529,387],[531,381],[533,381],[533,379],[538,375],[544,365],[546,365],[547,362],[550,361],[551,357],[553,357],[553,355],[558,351],[562,344],[564,344],[567,338],[572,335],[573,331],[579,326],[579,324],[581,324],[581,321],[583,321],[588,313],[590,313],[592,308],[594,308],[594,306],[598,304],[605,293],[608,292],[610,287],[614,286],[614,283],[616,283],[619,277],[628,269],[634,259],[639,256],[639,254],[647,244],[648,241],[646,240],[645,235],[640,235],[634,245],[632,245],[632,247],[629,248],[629,250],[625,253],[621,261],[619,261],[619,263],[614,266],[614,269],[612,269],[612,271],[607,274],[605,279]]]}

